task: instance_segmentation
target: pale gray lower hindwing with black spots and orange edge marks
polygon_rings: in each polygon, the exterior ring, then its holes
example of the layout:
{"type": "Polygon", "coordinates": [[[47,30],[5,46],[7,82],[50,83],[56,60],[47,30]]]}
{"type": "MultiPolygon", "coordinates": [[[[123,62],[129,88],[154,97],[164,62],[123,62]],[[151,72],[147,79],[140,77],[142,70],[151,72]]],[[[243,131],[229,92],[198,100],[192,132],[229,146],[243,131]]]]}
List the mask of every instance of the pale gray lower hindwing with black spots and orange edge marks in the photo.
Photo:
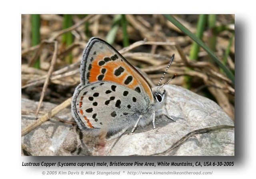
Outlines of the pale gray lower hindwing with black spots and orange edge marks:
{"type": "Polygon", "coordinates": [[[133,127],[146,101],[134,90],[112,82],[78,86],[72,111],[82,129],[116,132],[133,127]]]}

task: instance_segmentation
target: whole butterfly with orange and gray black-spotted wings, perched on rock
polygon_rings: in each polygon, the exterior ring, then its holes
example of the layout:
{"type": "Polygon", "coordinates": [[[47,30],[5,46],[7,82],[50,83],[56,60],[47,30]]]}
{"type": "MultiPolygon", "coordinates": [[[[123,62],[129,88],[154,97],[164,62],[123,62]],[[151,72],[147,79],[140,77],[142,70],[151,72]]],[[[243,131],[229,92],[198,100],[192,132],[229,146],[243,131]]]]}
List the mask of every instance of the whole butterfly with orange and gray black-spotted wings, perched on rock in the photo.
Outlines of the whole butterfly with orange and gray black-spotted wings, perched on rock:
{"type": "MultiPolygon", "coordinates": [[[[174,55],[168,68],[173,59],[174,55]]],[[[128,129],[133,133],[137,126],[150,122],[156,130],[155,118],[166,95],[166,91],[160,93],[159,89],[153,92],[142,74],[115,48],[93,37],[82,54],[72,115],[78,127],[92,135],[100,132],[112,135],[128,129]]],[[[168,118],[172,119],[169,115],[168,118]]]]}

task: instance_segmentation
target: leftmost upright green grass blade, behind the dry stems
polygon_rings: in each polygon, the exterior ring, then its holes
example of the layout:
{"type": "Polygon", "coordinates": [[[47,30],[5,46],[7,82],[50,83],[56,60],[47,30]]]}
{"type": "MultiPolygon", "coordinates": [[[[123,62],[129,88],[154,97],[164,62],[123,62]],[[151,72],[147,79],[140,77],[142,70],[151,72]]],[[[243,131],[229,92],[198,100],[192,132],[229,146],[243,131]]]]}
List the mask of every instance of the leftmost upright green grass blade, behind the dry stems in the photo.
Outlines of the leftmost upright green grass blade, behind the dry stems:
{"type": "MultiPolygon", "coordinates": [[[[32,25],[32,46],[36,46],[40,43],[40,14],[32,14],[31,15],[31,25],[32,25]]],[[[40,69],[40,60],[39,58],[36,60],[34,64],[34,68],[40,69]]]]}

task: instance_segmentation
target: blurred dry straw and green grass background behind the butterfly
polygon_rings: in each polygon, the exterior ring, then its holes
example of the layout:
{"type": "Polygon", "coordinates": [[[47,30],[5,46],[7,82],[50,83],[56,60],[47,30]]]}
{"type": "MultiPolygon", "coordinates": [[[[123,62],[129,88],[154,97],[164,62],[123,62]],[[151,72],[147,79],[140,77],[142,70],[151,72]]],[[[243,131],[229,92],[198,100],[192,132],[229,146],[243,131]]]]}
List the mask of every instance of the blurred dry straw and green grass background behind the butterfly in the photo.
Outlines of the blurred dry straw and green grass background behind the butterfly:
{"type": "Polygon", "coordinates": [[[234,14],[22,14],[22,97],[60,104],[80,83],[88,40],[114,46],[157,85],[218,103],[234,120],[234,14]]]}

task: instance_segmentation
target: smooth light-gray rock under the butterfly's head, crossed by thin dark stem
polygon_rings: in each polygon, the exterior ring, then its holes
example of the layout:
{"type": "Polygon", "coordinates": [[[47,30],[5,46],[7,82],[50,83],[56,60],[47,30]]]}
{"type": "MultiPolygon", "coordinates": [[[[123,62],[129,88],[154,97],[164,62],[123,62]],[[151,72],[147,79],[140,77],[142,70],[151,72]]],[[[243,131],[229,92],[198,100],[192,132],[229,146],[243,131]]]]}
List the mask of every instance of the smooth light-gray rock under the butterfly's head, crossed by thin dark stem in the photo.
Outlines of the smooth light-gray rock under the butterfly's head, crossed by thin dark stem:
{"type": "Polygon", "coordinates": [[[234,155],[234,128],[196,133],[162,153],[192,131],[219,125],[234,126],[233,120],[214,101],[174,85],[166,85],[164,89],[167,91],[166,111],[176,122],[162,117],[156,119],[158,132],[150,124],[132,135],[110,140],[106,144],[106,155],[234,155]]]}

